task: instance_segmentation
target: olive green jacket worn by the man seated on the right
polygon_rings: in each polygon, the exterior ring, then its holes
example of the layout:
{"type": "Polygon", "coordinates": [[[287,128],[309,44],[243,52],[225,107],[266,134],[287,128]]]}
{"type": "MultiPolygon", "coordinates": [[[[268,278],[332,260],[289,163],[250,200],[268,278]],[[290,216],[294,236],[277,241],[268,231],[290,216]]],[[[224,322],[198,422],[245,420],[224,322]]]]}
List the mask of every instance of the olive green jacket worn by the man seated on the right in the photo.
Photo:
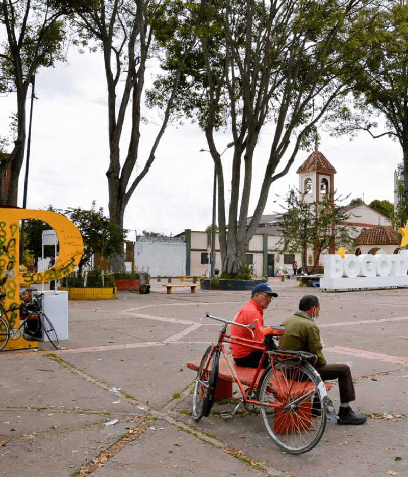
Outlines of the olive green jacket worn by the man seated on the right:
{"type": "Polygon", "coordinates": [[[309,351],[317,356],[316,366],[327,363],[322,353],[319,328],[308,315],[296,312],[281,326],[285,326],[286,333],[279,338],[279,349],[309,351]]]}

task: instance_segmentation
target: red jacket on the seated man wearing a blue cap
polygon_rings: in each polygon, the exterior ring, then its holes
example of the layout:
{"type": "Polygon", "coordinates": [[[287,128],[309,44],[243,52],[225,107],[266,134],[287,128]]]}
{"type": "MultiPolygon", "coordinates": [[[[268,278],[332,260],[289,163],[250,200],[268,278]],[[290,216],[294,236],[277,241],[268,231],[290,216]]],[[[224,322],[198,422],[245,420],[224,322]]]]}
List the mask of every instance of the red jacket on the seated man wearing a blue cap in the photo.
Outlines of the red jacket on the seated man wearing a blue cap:
{"type": "MultiPolygon", "coordinates": [[[[246,338],[247,340],[260,342],[260,350],[262,349],[262,342],[264,336],[259,331],[261,326],[264,326],[264,311],[256,301],[249,300],[234,317],[236,323],[243,325],[253,324],[255,329],[253,330],[254,336],[252,336],[249,329],[242,328],[241,326],[231,325],[231,336],[237,336],[237,338],[246,338]]],[[[248,354],[252,353],[253,349],[246,346],[236,345],[230,343],[230,349],[234,358],[244,358],[248,354]]]]}

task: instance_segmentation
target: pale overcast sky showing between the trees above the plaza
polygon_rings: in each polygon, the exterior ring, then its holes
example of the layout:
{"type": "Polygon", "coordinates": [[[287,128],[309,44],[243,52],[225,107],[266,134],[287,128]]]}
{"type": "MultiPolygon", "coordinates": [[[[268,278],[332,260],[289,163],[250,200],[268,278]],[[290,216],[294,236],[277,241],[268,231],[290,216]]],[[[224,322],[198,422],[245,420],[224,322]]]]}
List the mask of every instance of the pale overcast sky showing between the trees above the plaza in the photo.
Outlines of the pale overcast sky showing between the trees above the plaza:
{"type": "MultiPolygon", "coordinates": [[[[151,71],[150,71],[151,73],[151,71]]],[[[149,74],[149,73],[148,73],[149,74]]],[[[147,77],[147,86],[150,79],[147,77]]],[[[29,89],[29,96],[31,91],[29,89]]],[[[109,166],[107,87],[100,52],[68,52],[68,63],[43,68],[36,75],[27,208],[81,207],[92,201],[108,216],[109,166]]],[[[27,130],[30,100],[27,101],[27,130]]],[[[0,97],[0,136],[9,134],[9,116],[16,110],[13,94],[0,97]]],[[[154,117],[154,111],[145,111],[154,117]]],[[[143,167],[158,126],[143,126],[140,167],[143,167]]],[[[129,129],[125,129],[121,154],[126,154],[129,129]]],[[[249,216],[256,207],[268,160],[272,131],[261,133],[254,153],[249,216]]],[[[217,133],[220,151],[232,141],[228,131],[217,133]]],[[[176,235],[185,229],[205,230],[212,221],[214,164],[204,133],[198,125],[167,128],[156,159],[127,205],[124,227],[127,239],[143,230],[176,235]]],[[[398,143],[388,137],[372,139],[367,133],[350,141],[347,136],[330,138],[322,134],[319,147],[335,167],[335,188],[340,194],[394,201],[394,171],[402,160],[398,143]]],[[[271,186],[264,214],[281,211],[277,195],[298,187],[296,170],[312,151],[300,151],[290,172],[271,186]],[[277,201],[277,202],[276,202],[277,201]]],[[[222,156],[225,191],[231,182],[232,149],[222,156]]],[[[281,165],[281,169],[284,167],[281,165]]],[[[280,171],[281,169],[278,169],[280,171]]],[[[25,162],[20,174],[18,206],[22,206],[25,162]]],[[[135,172],[136,174],[136,172],[135,172]]],[[[281,199],[282,203],[282,199],[281,199]]],[[[228,214],[228,210],[227,210],[228,214]]],[[[228,216],[228,215],[227,215],[228,216]]]]}

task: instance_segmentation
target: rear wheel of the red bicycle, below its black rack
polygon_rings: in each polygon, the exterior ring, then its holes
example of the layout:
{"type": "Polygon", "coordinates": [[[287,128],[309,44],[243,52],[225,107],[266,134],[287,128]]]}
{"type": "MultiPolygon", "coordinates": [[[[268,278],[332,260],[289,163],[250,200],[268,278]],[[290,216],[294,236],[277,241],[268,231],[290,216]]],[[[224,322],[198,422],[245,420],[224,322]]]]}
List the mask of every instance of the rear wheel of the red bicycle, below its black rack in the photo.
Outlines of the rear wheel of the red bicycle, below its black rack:
{"type": "Polygon", "coordinates": [[[283,451],[302,454],[319,442],[327,421],[325,395],[324,384],[310,364],[287,360],[271,367],[258,399],[265,430],[283,451]]]}

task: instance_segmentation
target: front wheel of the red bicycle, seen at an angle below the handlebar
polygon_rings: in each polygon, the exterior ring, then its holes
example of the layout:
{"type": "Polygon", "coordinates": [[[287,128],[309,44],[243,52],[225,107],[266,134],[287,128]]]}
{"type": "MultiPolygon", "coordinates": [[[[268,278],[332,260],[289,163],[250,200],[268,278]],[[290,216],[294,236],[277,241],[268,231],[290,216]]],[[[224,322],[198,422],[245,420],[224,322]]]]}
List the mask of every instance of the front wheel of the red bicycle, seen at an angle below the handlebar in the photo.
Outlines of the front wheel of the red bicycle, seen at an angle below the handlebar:
{"type": "Polygon", "coordinates": [[[204,353],[197,371],[193,391],[193,419],[207,417],[214,403],[215,386],[218,377],[219,351],[209,346],[204,353]]]}

